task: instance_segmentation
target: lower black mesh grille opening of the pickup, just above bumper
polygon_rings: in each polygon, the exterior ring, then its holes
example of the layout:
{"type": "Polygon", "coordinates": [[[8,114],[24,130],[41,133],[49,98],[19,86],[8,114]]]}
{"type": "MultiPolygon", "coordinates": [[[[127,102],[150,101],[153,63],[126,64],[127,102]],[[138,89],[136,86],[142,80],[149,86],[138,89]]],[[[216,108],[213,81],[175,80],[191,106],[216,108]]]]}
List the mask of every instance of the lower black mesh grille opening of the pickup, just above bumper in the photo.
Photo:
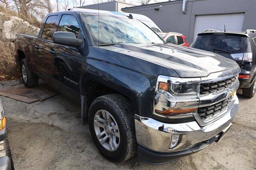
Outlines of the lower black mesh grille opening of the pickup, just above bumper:
{"type": "Polygon", "coordinates": [[[232,98],[233,98],[233,96],[230,96],[227,99],[224,99],[218,103],[215,103],[214,105],[198,107],[197,113],[200,115],[202,120],[208,119],[208,118],[224,111],[228,107],[228,104],[230,103],[232,98]]]}

